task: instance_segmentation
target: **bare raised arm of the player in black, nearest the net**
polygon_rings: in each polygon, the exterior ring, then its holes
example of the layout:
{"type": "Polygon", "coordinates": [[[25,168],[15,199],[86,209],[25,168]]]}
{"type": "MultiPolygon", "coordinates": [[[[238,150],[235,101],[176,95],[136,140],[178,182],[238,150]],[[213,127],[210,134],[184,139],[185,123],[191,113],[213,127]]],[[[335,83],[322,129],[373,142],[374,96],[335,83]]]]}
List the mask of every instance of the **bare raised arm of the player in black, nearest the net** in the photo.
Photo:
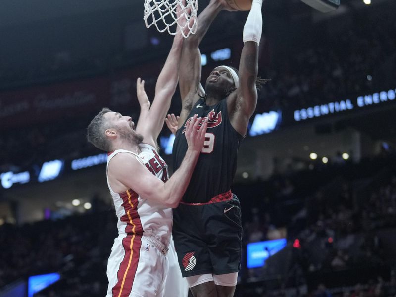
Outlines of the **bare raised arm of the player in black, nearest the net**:
{"type": "Polygon", "coordinates": [[[200,84],[201,79],[201,53],[199,44],[205,36],[210,24],[224,7],[224,1],[211,0],[198,16],[198,28],[196,34],[191,34],[183,42],[180,69],[180,95],[182,98],[182,110],[180,112],[179,128],[187,119],[194,104],[198,101],[198,92],[204,95],[205,91],[200,84]]]}

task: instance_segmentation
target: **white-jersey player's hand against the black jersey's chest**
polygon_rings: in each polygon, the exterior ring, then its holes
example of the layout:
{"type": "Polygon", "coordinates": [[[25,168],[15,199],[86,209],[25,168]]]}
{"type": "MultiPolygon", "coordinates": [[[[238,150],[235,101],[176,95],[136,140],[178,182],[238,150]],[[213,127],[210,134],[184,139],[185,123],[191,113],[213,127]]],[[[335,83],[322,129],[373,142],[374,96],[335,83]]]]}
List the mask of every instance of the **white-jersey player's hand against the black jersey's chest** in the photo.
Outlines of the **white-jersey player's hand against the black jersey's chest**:
{"type": "Polygon", "coordinates": [[[194,151],[200,152],[203,148],[203,143],[205,142],[205,133],[207,129],[207,122],[202,118],[197,118],[197,115],[187,121],[186,123],[186,140],[189,148],[194,151]],[[199,124],[201,124],[199,126],[199,124]]]}

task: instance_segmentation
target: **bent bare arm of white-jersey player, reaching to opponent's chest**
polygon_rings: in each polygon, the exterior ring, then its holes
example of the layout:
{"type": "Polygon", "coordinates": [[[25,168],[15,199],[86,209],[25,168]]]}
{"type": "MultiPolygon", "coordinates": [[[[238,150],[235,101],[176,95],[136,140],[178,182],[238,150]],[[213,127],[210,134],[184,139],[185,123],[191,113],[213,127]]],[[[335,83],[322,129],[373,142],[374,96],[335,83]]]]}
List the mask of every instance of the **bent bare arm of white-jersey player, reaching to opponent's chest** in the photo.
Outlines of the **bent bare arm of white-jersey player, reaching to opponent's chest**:
{"type": "Polygon", "coordinates": [[[179,169],[166,183],[151,174],[135,156],[121,153],[109,163],[108,175],[113,190],[124,192],[127,189],[132,189],[141,197],[160,203],[165,207],[177,207],[186,192],[205,141],[207,124],[204,123],[198,129],[200,121],[201,118],[195,116],[193,121],[188,123],[186,155],[179,169]]]}

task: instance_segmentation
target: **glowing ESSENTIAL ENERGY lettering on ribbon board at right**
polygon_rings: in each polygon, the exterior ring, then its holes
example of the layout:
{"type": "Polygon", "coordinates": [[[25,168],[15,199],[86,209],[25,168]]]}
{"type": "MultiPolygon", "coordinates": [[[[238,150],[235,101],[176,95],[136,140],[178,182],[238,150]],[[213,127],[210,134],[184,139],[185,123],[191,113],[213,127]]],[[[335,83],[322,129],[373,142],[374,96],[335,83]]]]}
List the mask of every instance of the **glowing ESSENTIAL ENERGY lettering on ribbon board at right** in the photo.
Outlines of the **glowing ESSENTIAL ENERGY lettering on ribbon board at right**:
{"type": "Polygon", "coordinates": [[[358,109],[365,106],[393,101],[396,98],[396,89],[381,91],[369,95],[358,96],[356,99],[346,99],[329,102],[322,105],[311,106],[294,111],[296,122],[321,117],[327,114],[339,113],[347,110],[358,109]]]}

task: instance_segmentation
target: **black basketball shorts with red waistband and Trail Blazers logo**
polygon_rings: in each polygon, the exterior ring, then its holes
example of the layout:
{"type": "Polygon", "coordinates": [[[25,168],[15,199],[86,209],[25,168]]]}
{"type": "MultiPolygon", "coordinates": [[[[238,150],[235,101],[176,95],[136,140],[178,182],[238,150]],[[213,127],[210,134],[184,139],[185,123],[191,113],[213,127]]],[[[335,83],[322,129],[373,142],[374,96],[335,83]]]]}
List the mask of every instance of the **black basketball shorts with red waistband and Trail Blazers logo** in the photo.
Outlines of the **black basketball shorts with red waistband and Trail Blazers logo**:
{"type": "Polygon", "coordinates": [[[231,191],[207,203],[180,203],[173,210],[172,234],[183,277],[240,269],[241,208],[231,191]]]}

